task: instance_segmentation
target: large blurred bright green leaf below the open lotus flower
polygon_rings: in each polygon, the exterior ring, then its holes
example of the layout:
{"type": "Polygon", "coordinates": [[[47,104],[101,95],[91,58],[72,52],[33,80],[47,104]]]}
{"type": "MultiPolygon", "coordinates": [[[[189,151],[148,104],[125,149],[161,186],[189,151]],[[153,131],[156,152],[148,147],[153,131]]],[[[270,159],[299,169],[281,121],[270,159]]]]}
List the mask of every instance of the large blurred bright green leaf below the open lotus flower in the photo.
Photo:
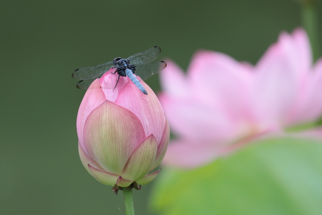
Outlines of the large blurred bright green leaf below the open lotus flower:
{"type": "Polygon", "coordinates": [[[151,206],[166,215],[321,214],[321,143],[266,139],[198,169],[163,168],[151,206]]]}

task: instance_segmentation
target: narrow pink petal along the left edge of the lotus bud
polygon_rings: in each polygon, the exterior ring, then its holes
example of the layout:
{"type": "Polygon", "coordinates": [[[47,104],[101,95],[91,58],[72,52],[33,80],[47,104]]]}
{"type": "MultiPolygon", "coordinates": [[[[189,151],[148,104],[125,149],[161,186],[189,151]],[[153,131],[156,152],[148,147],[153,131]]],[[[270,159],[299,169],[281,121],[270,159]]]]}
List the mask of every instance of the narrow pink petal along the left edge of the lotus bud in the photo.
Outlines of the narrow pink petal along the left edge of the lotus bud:
{"type": "MultiPolygon", "coordinates": [[[[86,91],[84,98],[81,102],[80,108],[78,110],[77,114],[77,135],[79,142],[83,149],[84,147],[84,140],[83,140],[83,132],[84,132],[84,124],[85,121],[90,114],[96,107],[98,107],[101,103],[106,101],[105,95],[100,87],[99,79],[96,79],[93,81],[93,83],[90,85],[88,90],[86,91]]],[[[85,149],[85,153],[88,154],[88,152],[85,149]]]]}

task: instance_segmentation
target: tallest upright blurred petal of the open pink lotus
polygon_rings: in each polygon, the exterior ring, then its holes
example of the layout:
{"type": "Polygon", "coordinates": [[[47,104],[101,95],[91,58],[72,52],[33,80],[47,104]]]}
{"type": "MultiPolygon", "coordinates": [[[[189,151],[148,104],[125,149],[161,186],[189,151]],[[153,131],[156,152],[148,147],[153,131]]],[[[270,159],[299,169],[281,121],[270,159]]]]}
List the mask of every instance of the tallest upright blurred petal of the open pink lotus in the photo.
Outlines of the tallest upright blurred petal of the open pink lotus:
{"type": "Polygon", "coordinates": [[[286,124],[294,108],[309,69],[306,63],[301,63],[299,51],[294,38],[282,33],[279,42],[270,46],[256,65],[253,108],[257,119],[265,126],[286,124]]]}

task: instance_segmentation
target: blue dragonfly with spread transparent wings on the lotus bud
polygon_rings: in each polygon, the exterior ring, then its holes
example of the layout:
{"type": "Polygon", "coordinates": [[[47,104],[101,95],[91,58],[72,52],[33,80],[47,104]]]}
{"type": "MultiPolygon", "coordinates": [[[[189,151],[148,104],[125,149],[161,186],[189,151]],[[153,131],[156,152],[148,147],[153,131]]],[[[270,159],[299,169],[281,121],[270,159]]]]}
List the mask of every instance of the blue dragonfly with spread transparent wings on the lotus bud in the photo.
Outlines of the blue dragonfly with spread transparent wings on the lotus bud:
{"type": "Polygon", "coordinates": [[[147,95],[146,89],[136,76],[139,76],[144,81],[151,75],[166,68],[166,62],[164,61],[151,62],[160,53],[160,47],[153,46],[126,59],[117,57],[113,61],[104,64],[76,69],[71,76],[81,80],[76,84],[79,89],[87,89],[95,79],[101,78],[103,75],[108,75],[109,77],[105,79],[107,83],[102,83],[101,87],[115,89],[117,86],[127,83],[128,77],[142,93],[147,95]]]}

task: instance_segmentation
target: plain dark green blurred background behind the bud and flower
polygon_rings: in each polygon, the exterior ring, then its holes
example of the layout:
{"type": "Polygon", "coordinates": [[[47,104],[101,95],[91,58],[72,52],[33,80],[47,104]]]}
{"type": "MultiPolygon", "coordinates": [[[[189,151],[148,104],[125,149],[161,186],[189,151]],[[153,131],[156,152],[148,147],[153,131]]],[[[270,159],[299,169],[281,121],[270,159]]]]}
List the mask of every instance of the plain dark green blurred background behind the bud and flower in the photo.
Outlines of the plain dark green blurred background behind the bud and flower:
{"type": "MultiPolygon", "coordinates": [[[[125,214],[122,193],[79,159],[85,91],[73,70],[154,45],[158,60],[183,69],[198,49],[254,64],[280,31],[300,25],[293,0],[2,1],[0,17],[0,214],[33,215],[125,214]]],[[[147,83],[160,90],[157,75],[147,83]]],[[[137,214],[151,214],[152,186],[134,191],[137,214]]]]}

